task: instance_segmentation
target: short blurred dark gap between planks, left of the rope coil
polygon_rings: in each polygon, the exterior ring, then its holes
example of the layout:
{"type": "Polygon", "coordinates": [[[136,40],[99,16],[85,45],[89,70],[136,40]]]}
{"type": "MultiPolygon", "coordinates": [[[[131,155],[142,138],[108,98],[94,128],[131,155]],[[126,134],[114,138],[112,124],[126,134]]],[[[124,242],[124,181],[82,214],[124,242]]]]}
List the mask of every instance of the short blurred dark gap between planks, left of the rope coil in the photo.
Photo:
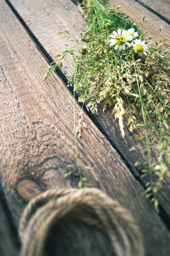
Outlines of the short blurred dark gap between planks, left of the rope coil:
{"type": "Polygon", "coordinates": [[[14,224],[13,216],[11,214],[11,211],[10,211],[9,207],[8,207],[8,203],[7,203],[7,200],[6,200],[6,195],[5,195],[5,192],[3,190],[3,187],[1,185],[1,183],[0,183],[0,201],[3,205],[3,210],[5,212],[6,218],[8,220],[8,224],[10,226],[10,231],[13,235],[14,246],[19,251],[20,247],[21,247],[20,238],[19,238],[19,235],[18,235],[17,227],[14,224]]]}

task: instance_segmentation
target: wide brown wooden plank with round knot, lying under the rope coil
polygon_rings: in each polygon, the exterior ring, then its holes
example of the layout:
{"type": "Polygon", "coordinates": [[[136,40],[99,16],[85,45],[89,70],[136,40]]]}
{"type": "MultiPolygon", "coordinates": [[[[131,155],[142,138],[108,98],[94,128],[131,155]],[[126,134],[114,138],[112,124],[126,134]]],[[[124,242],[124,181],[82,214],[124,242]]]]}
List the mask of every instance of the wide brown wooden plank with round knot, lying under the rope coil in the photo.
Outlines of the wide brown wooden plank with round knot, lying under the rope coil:
{"type": "MultiPolygon", "coordinates": [[[[41,82],[47,62],[5,2],[0,9],[0,179],[16,224],[26,202],[64,179],[75,163],[73,96],[53,74],[41,82]]],[[[80,107],[76,104],[76,115],[80,107]]],[[[83,175],[128,208],[144,235],[147,255],[170,253],[170,232],[145,198],[141,185],[94,123],[78,142],[83,175]],[[83,168],[91,166],[94,169],[83,168]]],[[[76,118],[78,123],[78,118],[76,118]]]]}

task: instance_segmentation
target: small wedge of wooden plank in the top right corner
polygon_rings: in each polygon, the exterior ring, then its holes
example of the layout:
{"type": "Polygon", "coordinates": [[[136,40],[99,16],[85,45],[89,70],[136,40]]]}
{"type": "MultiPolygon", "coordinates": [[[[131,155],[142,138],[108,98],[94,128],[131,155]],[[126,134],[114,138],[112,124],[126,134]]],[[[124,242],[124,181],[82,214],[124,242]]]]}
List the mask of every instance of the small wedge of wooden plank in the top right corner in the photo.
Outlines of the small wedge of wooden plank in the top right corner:
{"type": "Polygon", "coordinates": [[[136,0],[170,22],[170,0],[136,0]]]}

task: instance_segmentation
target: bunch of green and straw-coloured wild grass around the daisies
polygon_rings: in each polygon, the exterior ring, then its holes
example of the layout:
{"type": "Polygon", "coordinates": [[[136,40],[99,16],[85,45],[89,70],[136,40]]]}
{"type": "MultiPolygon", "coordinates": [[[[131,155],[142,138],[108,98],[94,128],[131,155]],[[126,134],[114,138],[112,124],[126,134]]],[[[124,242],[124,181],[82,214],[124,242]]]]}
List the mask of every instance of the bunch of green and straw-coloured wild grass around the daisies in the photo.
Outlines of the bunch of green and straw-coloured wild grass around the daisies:
{"type": "MultiPolygon", "coordinates": [[[[107,2],[86,0],[82,3],[88,28],[82,32],[80,41],[76,39],[75,47],[57,55],[58,59],[51,64],[44,79],[57,67],[62,67],[62,61],[70,53],[74,58],[75,71],[68,86],[74,86],[74,91],[79,93],[79,102],[85,103],[92,113],[97,113],[100,102],[103,111],[112,107],[112,114],[119,120],[122,137],[125,136],[125,125],[131,132],[146,129],[147,161],[137,162],[136,166],[142,164],[145,167],[143,176],[150,175],[147,196],[153,195],[152,200],[157,207],[156,193],[170,167],[170,51],[161,49],[166,38],[152,45],[152,38],[147,38],[147,32],[127,20],[119,12],[119,7],[109,6],[107,2]],[[150,41],[146,56],[134,52],[133,42],[121,51],[110,46],[109,35],[113,31],[130,28],[138,32],[142,41],[150,41]],[[124,116],[127,117],[125,120],[124,116]],[[153,134],[158,134],[159,157],[155,162],[150,155],[153,140],[148,139],[148,128],[153,134]]],[[[142,27],[146,22],[143,18],[142,27]]]]}

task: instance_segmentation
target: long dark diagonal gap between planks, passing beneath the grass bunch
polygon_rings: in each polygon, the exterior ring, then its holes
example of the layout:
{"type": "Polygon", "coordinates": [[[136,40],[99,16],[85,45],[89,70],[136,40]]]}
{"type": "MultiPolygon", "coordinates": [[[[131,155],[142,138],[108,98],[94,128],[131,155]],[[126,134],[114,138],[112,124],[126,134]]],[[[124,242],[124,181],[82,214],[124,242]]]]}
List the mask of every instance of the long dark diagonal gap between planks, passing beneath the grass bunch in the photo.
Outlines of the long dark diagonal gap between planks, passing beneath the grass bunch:
{"type": "MultiPolygon", "coordinates": [[[[26,22],[23,20],[23,18],[20,16],[20,14],[17,12],[17,10],[14,8],[14,6],[10,3],[9,0],[5,0],[6,3],[8,4],[8,6],[11,8],[12,12],[14,12],[14,14],[16,15],[16,17],[18,18],[18,20],[20,20],[20,22],[22,23],[23,27],[26,29],[26,31],[28,32],[28,34],[30,35],[30,37],[33,39],[33,41],[37,44],[37,49],[40,51],[40,53],[42,54],[42,56],[45,58],[45,60],[48,62],[48,64],[50,64],[51,62],[53,62],[54,60],[51,58],[51,56],[49,55],[49,53],[45,50],[45,48],[42,46],[42,44],[40,43],[40,41],[37,39],[37,37],[34,35],[34,33],[31,31],[31,29],[28,27],[28,25],[26,24],[26,22]]],[[[61,77],[61,79],[65,82],[65,86],[67,87],[67,83],[68,83],[68,79],[67,77],[64,75],[64,73],[57,68],[57,70],[55,71],[55,73],[57,75],[59,75],[61,77]]],[[[67,87],[68,88],[68,87],[67,87]]],[[[69,90],[71,91],[71,93],[73,94],[73,88],[69,88],[69,90]]],[[[75,98],[77,99],[77,94],[75,95],[75,98]]],[[[79,104],[79,102],[77,102],[79,104]]],[[[89,111],[87,111],[86,108],[84,108],[85,112],[88,114],[88,116],[91,118],[91,120],[94,122],[94,124],[97,126],[97,128],[101,131],[101,133],[105,136],[105,138],[109,141],[109,143],[111,143],[112,147],[116,150],[116,152],[119,154],[119,156],[122,158],[122,160],[124,161],[125,165],[128,167],[128,169],[130,170],[130,172],[132,173],[132,175],[135,177],[135,179],[141,184],[141,186],[143,187],[144,190],[147,189],[146,185],[144,184],[144,182],[142,181],[142,179],[140,178],[139,172],[137,171],[137,169],[134,166],[131,166],[131,164],[128,162],[128,160],[124,157],[124,155],[121,153],[121,151],[119,151],[119,149],[116,147],[115,143],[113,142],[113,140],[108,136],[108,134],[104,131],[104,129],[102,128],[102,125],[99,124],[99,122],[96,120],[95,116],[92,115],[92,113],[90,113],[89,111]]],[[[151,200],[152,198],[150,198],[151,200]]],[[[164,224],[166,225],[166,227],[170,230],[170,216],[168,215],[168,213],[166,212],[166,210],[164,210],[164,208],[161,206],[161,204],[159,204],[159,216],[161,218],[161,220],[164,222],[164,224]]]]}

